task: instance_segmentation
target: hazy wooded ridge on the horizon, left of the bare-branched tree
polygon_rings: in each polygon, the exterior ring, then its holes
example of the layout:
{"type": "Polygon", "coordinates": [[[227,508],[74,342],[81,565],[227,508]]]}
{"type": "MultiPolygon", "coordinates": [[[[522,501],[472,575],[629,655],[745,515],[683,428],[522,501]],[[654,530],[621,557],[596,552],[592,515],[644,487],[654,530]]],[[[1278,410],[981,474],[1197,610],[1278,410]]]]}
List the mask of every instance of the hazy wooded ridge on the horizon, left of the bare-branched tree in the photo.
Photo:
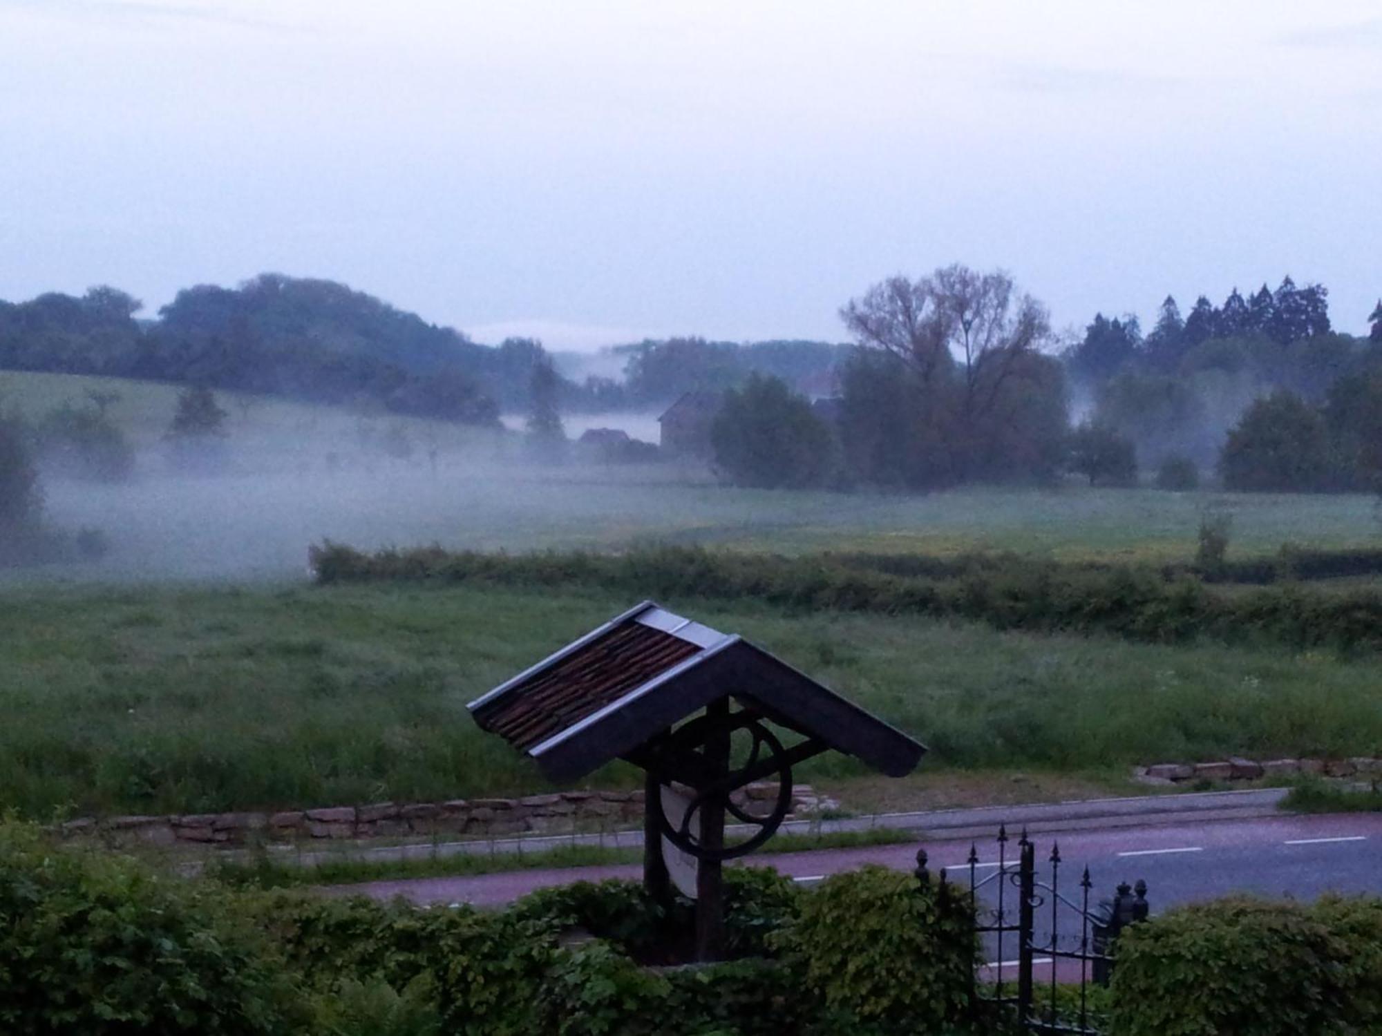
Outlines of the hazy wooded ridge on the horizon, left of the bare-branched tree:
{"type": "MultiPolygon", "coordinates": [[[[195,384],[321,403],[496,424],[531,399],[533,372],[553,358],[535,338],[482,345],[452,327],[332,280],[263,274],[227,289],[178,291],[141,320],[113,287],[0,301],[0,369],[105,374],[195,384]]],[[[752,370],[806,384],[829,377],[840,345],[739,345],[683,337],[615,347],[625,381],[556,373],[565,410],[661,406],[699,385],[728,387],[752,370]]]]}

